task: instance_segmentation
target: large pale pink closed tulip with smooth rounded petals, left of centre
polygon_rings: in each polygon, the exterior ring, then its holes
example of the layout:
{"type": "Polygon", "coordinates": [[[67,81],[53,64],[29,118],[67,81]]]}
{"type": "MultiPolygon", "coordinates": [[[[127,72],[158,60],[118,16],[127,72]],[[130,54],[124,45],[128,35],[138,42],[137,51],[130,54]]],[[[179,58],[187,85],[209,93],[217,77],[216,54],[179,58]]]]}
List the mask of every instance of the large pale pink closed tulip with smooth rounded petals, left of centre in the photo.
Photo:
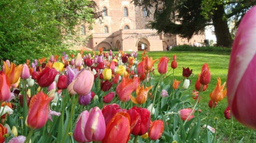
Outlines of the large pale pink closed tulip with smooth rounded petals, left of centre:
{"type": "Polygon", "coordinates": [[[74,82],[74,91],[79,95],[87,95],[91,92],[94,83],[94,74],[92,71],[84,70],[80,72],[74,82]]]}

